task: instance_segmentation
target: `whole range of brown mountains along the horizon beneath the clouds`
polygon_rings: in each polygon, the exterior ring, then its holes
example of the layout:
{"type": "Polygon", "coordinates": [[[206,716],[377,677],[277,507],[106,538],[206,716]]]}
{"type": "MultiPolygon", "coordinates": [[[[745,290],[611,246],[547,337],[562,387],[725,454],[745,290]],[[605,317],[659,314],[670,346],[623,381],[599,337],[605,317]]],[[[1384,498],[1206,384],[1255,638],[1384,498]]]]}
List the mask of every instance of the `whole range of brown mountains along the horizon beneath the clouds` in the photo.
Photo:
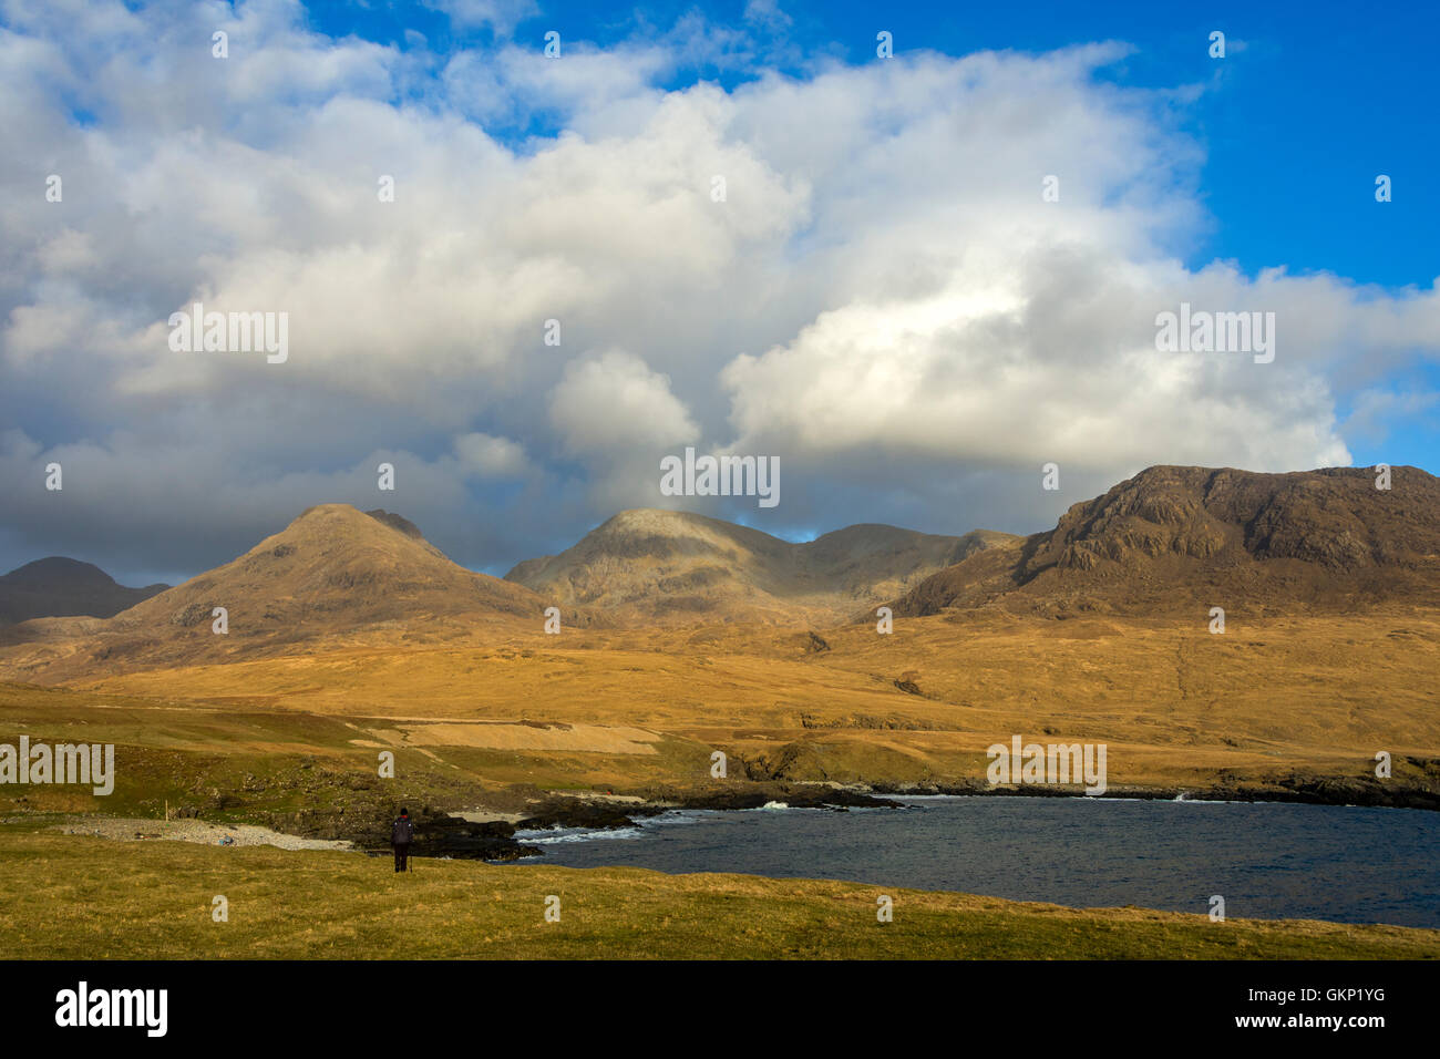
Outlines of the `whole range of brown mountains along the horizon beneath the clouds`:
{"type": "Polygon", "coordinates": [[[0,630],[0,666],[29,680],[318,644],[504,637],[539,630],[552,607],[566,628],[796,631],[874,620],[883,604],[916,618],[1433,607],[1440,480],[1397,467],[1384,490],[1356,468],[1152,467],[1030,536],[861,524],[791,543],[698,514],[631,510],[504,579],[451,562],[397,514],[320,504],[174,588],[127,589],[66,559],[30,563],[0,586],[19,621],[0,630]],[[213,633],[216,608],[226,635],[213,633]],[[24,620],[37,609],[52,617],[24,620]]]}

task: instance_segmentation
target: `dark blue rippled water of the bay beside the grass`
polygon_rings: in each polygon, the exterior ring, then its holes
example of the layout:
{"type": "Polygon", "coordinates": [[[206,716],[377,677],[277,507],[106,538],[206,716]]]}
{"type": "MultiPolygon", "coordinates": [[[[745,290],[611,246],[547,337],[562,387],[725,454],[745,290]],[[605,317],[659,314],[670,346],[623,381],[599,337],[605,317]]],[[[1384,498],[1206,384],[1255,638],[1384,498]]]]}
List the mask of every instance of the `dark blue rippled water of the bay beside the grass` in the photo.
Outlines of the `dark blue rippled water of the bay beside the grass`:
{"type": "MultiPolygon", "coordinates": [[[[1099,798],[914,798],[901,810],[667,813],[521,833],[543,862],[962,890],[1076,908],[1440,926],[1440,813],[1099,798]]],[[[521,863],[537,863],[536,860],[521,863]]]]}

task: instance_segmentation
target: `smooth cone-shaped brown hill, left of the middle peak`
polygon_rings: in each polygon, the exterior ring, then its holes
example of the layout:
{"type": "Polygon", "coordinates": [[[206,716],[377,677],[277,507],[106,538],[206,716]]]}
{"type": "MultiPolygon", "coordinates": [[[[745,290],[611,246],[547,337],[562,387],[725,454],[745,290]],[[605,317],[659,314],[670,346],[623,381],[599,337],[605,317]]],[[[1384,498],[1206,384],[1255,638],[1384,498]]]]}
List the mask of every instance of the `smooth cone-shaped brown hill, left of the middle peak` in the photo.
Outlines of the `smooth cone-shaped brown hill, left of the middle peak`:
{"type": "MultiPolygon", "coordinates": [[[[27,679],[233,661],[320,643],[425,641],[544,620],[550,601],[456,566],[415,526],[384,511],[320,504],[238,559],[108,621],[7,628],[0,654],[27,679]],[[228,611],[219,635],[213,611],[228,611]]],[[[573,611],[564,618],[580,621],[573,611]]]]}

